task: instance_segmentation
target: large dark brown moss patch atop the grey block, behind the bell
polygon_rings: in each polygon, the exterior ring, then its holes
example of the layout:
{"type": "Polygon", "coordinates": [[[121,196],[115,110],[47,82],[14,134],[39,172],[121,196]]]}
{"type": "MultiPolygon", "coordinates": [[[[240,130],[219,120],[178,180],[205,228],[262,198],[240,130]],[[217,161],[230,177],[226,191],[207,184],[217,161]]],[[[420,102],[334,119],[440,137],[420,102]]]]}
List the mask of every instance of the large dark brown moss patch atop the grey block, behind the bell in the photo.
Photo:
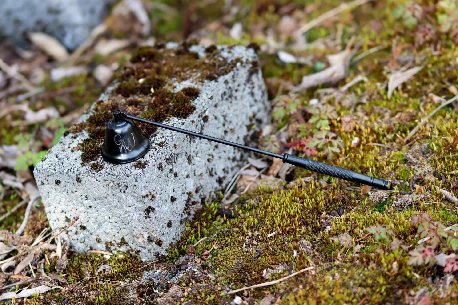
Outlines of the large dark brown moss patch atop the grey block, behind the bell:
{"type": "MultiPolygon", "coordinates": [[[[195,82],[213,81],[219,76],[233,71],[241,62],[219,57],[218,49],[207,48],[207,55],[199,58],[189,50],[190,43],[184,43],[178,49],[164,49],[163,46],[141,47],[132,53],[131,66],[120,71],[115,77],[118,86],[105,101],[98,101],[93,114],[87,122],[78,123],[65,132],[80,133],[87,131],[88,139],[81,144],[82,164],[87,164],[100,156],[101,143],[104,141],[105,126],[112,118],[114,109],[121,109],[129,114],[148,120],[162,122],[171,117],[186,118],[196,107],[192,101],[199,96],[197,87],[186,87],[174,92],[168,87],[174,83],[193,78],[195,82]],[[211,51],[211,52],[210,52],[211,51]]],[[[138,124],[141,131],[152,136],[156,127],[138,124]]],[[[101,166],[94,164],[94,170],[101,166]]]]}

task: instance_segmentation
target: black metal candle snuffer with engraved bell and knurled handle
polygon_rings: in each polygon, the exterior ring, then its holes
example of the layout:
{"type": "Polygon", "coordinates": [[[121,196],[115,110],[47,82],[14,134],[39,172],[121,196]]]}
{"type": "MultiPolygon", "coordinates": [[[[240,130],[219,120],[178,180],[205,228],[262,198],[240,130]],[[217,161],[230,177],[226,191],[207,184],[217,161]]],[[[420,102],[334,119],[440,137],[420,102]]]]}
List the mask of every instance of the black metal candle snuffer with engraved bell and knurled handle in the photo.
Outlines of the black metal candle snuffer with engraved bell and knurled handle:
{"type": "Polygon", "coordinates": [[[262,149],[249,147],[239,143],[218,139],[213,136],[203,135],[197,132],[188,131],[178,127],[157,123],[154,121],[142,119],[133,115],[126,114],[119,109],[113,111],[113,119],[108,122],[105,141],[102,146],[102,157],[105,161],[114,164],[130,163],[142,158],[149,150],[150,143],[147,137],[143,136],[133,121],[154,125],[157,127],[169,129],[172,131],[184,133],[190,136],[196,136],[213,142],[245,149],[251,152],[256,152],[273,158],[282,159],[284,163],[289,163],[303,169],[308,169],[316,173],[329,175],[339,179],[361,183],[369,186],[374,186],[382,190],[389,190],[392,186],[387,180],[376,179],[360,173],[356,173],[349,169],[343,169],[334,165],[322,163],[319,161],[300,158],[297,156],[285,153],[280,155],[273,152],[264,151],[262,149]]]}

